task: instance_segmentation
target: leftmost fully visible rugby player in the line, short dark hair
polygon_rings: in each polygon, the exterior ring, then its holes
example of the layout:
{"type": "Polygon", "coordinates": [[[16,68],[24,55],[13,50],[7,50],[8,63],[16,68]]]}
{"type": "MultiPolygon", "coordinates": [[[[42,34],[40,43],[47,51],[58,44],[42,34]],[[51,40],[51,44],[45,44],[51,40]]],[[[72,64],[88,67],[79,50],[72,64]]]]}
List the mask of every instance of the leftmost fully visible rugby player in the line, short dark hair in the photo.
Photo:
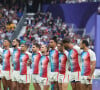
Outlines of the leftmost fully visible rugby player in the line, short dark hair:
{"type": "Polygon", "coordinates": [[[3,42],[3,52],[2,52],[2,82],[4,90],[11,90],[11,55],[12,52],[10,50],[10,40],[5,39],[3,42]]]}

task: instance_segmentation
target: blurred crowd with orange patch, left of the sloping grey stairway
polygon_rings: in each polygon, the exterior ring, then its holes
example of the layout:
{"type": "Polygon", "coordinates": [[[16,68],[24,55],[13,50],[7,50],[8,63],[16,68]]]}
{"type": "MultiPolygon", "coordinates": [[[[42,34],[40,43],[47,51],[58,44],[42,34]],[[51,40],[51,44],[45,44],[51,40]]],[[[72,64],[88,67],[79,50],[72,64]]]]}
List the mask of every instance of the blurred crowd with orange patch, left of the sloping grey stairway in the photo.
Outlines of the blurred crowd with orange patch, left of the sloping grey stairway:
{"type": "Polygon", "coordinates": [[[0,47],[5,38],[11,38],[22,15],[22,10],[17,6],[9,9],[0,4],[0,47]]]}

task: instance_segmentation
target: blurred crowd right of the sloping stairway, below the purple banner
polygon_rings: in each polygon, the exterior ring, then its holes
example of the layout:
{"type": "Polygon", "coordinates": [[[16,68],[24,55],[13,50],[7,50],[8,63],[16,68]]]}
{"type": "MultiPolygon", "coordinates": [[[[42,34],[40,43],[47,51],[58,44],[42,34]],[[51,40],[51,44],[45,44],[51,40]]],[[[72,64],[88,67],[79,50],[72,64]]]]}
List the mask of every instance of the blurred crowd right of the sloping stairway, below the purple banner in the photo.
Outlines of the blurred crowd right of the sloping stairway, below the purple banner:
{"type": "Polygon", "coordinates": [[[87,39],[90,43],[90,48],[94,49],[93,41],[89,36],[82,36],[74,32],[72,25],[68,25],[60,17],[54,19],[50,12],[36,13],[33,17],[26,18],[26,32],[20,37],[21,42],[26,42],[29,46],[29,51],[32,50],[34,42],[41,44],[49,43],[52,36],[56,36],[59,40],[64,37],[71,38],[72,42],[79,44],[81,39],[87,39]]]}

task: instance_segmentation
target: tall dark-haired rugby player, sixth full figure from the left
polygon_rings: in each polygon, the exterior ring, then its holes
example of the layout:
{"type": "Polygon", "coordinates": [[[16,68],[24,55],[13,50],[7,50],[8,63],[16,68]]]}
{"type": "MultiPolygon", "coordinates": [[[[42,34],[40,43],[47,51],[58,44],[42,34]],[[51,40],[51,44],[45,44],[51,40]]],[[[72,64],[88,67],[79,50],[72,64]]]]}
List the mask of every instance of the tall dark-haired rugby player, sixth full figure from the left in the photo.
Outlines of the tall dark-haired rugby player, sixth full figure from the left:
{"type": "Polygon", "coordinates": [[[51,90],[59,90],[58,86],[58,72],[59,72],[59,53],[57,50],[57,38],[54,36],[50,39],[49,42],[50,51],[50,81],[51,81],[51,90]]]}

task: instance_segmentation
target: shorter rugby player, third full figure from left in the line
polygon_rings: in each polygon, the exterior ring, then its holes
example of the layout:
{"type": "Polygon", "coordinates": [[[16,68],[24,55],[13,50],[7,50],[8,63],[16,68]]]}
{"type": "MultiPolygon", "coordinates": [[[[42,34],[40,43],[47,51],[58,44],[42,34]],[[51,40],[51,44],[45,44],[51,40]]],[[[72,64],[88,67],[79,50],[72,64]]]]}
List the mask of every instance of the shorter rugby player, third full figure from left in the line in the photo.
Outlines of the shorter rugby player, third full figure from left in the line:
{"type": "Polygon", "coordinates": [[[30,60],[31,56],[27,54],[27,45],[21,44],[20,54],[20,79],[19,90],[29,90],[30,85],[30,60]]]}

